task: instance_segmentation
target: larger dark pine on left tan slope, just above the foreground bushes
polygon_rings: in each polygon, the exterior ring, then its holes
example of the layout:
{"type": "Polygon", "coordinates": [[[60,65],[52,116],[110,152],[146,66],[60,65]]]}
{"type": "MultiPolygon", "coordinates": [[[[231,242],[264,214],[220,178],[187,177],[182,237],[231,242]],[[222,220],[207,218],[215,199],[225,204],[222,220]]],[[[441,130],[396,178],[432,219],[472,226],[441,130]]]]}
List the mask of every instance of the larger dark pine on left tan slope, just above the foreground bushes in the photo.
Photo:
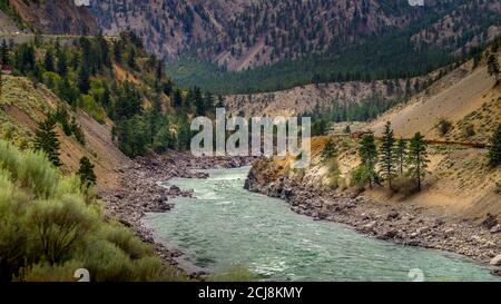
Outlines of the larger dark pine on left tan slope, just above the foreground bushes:
{"type": "Polygon", "coordinates": [[[43,151],[47,158],[56,166],[61,166],[59,159],[60,143],[57,133],[53,130],[56,127],[56,120],[49,115],[49,117],[38,124],[38,128],[35,131],[33,148],[38,151],[43,151]]]}

